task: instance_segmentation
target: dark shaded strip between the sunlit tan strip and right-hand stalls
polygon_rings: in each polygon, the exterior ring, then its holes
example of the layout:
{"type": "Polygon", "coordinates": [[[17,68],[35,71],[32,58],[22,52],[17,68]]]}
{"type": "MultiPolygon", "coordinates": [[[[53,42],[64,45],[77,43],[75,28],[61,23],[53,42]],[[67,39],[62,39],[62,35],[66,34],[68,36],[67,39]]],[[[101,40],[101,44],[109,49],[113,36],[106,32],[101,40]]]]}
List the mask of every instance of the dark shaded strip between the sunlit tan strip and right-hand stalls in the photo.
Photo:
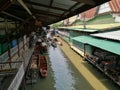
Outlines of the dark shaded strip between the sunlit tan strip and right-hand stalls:
{"type": "Polygon", "coordinates": [[[82,63],[95,77],[103,83],[108,90],[120,90],[120,87],[116,85],[112,80],[110,80],[107,76],[105,76],[100,70],[98,70],[95,66],[91,65],[89,62],[82,63]]]}

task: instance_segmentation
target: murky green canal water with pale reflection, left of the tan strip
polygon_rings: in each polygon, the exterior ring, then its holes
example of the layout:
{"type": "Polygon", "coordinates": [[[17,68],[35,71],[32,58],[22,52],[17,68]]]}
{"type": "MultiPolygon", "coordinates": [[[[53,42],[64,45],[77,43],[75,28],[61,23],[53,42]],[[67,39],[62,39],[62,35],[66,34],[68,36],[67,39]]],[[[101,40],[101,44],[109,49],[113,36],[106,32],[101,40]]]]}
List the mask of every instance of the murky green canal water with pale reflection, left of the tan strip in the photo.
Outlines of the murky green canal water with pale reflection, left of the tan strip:
{"type": "MultiPolygon", "coordinates": [[[[59,47],[49,47],[48,76],[38,78],[26,90],[95,90],[77,71],[59,47]]],[[[115,89],[118,90],[118,89],[115,89]]]]}

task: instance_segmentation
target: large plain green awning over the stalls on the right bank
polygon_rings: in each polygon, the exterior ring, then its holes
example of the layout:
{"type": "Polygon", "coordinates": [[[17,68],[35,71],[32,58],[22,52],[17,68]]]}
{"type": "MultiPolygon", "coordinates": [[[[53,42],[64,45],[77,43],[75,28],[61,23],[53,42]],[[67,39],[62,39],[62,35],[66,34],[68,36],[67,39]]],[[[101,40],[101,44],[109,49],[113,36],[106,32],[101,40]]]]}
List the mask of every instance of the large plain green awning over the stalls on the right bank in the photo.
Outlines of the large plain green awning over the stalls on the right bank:
{"type": "Polygon", "coordinates": [[[79,36],[72,39],[120,55],[120,42],[98,39],[91,36],[79,36]]]}

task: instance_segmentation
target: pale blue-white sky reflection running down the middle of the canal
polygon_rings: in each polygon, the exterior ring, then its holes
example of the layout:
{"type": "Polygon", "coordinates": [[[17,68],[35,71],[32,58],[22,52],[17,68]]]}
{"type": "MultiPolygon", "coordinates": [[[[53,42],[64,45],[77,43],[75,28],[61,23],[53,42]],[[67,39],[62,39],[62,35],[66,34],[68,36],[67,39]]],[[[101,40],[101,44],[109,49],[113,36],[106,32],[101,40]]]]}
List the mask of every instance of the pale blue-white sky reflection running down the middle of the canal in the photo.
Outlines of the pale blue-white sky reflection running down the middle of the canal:
{"type": "Polygon", "coordinates": [[[54,72],[56,90],[75,90],[75,79],[71,75],[67,59],[64,57],[59,48],[49,49],[51,67],[54,72]]]}

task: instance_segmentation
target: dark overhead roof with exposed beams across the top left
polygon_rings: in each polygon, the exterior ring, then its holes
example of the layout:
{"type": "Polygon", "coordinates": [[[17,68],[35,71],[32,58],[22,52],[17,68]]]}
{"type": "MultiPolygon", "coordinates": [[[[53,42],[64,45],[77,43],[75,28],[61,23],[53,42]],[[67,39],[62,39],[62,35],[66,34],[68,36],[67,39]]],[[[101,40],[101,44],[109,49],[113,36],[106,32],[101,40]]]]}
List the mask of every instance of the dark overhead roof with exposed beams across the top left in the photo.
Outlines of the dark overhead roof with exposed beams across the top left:
{"type": "Polygon", "coordinates": [[[0,0],[0,17],[19,22],[37,19],[49,25],[107,1],[110,0],[0,0]]]}

